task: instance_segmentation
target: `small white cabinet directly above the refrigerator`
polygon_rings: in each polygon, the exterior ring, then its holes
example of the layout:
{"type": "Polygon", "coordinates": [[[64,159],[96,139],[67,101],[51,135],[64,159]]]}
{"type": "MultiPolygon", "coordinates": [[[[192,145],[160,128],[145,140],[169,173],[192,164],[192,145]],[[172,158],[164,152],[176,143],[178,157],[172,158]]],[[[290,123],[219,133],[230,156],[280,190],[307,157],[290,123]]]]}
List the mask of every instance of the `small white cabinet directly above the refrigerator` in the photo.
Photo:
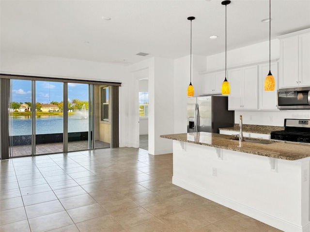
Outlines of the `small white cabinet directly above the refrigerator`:
{"type": "Polygon", "coordinates": [[[220,94],[225,71],[205,73],[202,75],[202,94],[220,94]]]}

